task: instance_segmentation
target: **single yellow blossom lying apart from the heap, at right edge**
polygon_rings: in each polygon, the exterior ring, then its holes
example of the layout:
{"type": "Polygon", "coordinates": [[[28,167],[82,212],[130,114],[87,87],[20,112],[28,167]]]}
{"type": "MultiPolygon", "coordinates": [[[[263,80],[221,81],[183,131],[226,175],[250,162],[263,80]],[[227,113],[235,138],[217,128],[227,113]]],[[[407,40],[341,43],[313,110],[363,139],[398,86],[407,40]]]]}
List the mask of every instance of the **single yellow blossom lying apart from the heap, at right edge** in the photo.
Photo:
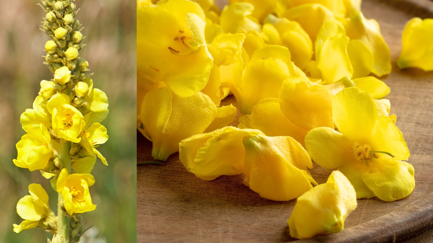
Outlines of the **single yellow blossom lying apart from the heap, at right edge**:
{"type": "Polygon", "coordinates": [[[433,70],[433,19],[410,19],[401,35],[401,53],[397,66],[433,70]]]}

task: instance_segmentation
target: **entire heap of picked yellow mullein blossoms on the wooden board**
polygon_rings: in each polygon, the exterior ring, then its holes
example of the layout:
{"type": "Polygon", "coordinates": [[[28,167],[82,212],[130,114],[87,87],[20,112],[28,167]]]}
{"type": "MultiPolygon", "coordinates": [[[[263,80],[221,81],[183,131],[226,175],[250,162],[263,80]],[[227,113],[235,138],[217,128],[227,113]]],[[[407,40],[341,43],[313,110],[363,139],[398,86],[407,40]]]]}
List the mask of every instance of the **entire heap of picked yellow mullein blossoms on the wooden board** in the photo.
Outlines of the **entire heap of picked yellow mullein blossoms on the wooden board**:
{"type": "MultiPolygon", "coordinates": [[[[408,196],[414,168],[402,161],[409,150],[385,99],[391,88],[378,79],[391,73],[390,50],[360,8],[360,0],[230,0],[220,11],[212,0],[137,0],[137,129],[152,157],[179,151],[200,179],[242,174],[263,198],[298,198],[288,224],[299,239],[343,230],[356,199],[408,196]],[[231,94],[238,109],[220,105],[231,94]],[[338,171],[317,186],[311,160],[338,171]]],[[[415,56],[406,44],[431,24],[420,21],[404,31],[402,68],[428,69],[431,33],[415,56]]]]}

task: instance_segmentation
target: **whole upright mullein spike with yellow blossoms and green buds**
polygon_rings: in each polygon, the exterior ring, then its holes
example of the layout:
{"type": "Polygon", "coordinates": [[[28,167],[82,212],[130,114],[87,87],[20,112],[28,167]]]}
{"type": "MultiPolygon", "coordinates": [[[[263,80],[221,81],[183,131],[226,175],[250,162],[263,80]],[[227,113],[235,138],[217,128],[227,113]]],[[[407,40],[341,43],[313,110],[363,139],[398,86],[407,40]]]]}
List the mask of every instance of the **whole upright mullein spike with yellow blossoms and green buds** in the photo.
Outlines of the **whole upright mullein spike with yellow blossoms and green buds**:
{"type": "Polygon", "coordinates": [[[29,185],[29,196],[19,200],[17,213],[24,221],[14,224],[16,233],[40,227],[53,234],[52,243],[74,243],[86,229],[82,213],[93,211],[89,187],[95,183],[91,171],[97,150],[107,141],[107,129],[99,122],[108,114],[104,92],[93,88],[89,63],[80,57],[84,47],[81,24],[74,0],[42,0],[46,12],[42,28],[51,38],[45,43],[44,64],[51,80],[42,80],[32,109],[21,114],[27,132],[16,144],[13,163],[30,171],[39,170],[58,192],[57,216],[49,208],[48,194],[39,184],[29,185]]]}

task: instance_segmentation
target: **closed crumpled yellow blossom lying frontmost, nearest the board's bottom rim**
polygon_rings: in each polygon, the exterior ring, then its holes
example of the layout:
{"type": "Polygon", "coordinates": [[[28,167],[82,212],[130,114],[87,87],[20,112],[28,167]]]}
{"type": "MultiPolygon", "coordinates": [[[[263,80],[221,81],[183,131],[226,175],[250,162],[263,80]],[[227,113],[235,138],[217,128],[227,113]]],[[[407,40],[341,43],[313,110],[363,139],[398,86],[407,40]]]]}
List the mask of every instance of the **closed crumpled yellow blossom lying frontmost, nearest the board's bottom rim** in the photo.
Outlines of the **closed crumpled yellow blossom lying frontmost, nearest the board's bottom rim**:
{"type": "Polygon", "coordinates": [[[307,239],[315,235],[338,233],[347,215],[355,210],[356,193],[349,180],[338,170],[326,183],[314,187],[296,200],[287,221],[291,237],[307,239]]]}

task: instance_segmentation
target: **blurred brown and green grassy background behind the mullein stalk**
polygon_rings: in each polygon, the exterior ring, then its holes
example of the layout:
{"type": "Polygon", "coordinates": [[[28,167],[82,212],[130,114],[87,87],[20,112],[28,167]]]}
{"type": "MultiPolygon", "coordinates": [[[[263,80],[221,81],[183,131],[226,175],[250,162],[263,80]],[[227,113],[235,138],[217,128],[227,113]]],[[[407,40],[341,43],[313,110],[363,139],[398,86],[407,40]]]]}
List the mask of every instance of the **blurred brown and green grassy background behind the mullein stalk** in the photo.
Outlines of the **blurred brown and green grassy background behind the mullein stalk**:
{"type": "MultiPolygon", "coordinates": [[[[0,0],[0,243],[46,242],[52,235],[39,228],[16,234],[12,224],[22,219],[16,203],[29,195],[28,185],[39,183],[57,213],[57,193],[39,171],[16,167],[15,144],[25,134],[19,116],[39,92],[42,79],[52,73],[42,64],[49,40],[39,30],[45,12],[39,0],[0,0]]],[[[81,242],[136,242],[136,1],[76,0],[81,10],[85,46],[80,57],[90,63],[94,88],[103,90],[110,113],[102,124],[108,141],[98,150],[108,166],[97,160],[90,187],[96,210],[83,214],[94,230],[81,242]],[[97,238],[95,240],[95,238],[97,238]]]]}

